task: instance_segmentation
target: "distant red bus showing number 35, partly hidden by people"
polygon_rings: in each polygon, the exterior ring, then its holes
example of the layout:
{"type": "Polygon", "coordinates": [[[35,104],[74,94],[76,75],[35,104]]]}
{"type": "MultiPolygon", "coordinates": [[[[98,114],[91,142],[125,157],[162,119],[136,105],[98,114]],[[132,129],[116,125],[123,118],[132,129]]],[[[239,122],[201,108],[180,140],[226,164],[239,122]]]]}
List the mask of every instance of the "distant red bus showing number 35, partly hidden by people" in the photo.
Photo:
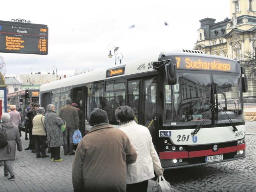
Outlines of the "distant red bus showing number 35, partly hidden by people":
{"type": "Polygon", "coordinates": [[[39,89],[23,89],[13,93],[7,93],[7,106],[16,105],[16,109],[20,112],[23,121],[24,112],[29,103],[39,103],[39,91],[39,89]]]}

